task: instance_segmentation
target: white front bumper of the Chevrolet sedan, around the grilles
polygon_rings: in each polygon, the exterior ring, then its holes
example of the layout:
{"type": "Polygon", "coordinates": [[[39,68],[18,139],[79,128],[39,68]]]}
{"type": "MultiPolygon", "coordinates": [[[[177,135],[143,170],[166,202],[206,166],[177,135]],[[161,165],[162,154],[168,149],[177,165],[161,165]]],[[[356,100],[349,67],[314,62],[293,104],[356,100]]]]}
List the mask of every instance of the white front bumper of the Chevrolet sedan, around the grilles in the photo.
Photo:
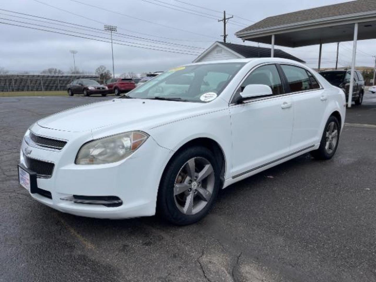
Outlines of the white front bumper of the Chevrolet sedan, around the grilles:
{"type": "MultiPolygon", "coordinates": [[[[39,126],[34,126],[32,130],[44,136],[61,137],[56,136],[58,130],[39,126]]],[[[70,136],[67,138],[65,135],[68,143],[61,151],[30,147],[25,141],[22,143],[22,165],[26,166],[24,154],[30,150],[28,158],[55,164],[50,178],[37,179],[38,188],[46,191],[50,197],[46,193],[30,194],[35,200],[59,211],[85,217],[115,219],[155,214],[160,177],[172,151],[162,148],[149,137],[135,153],[123,161],[105,165],[76,165],[74,158],[81,146],[79,144],[85,143],[85,137],[75,136],[78,133],[65,133],[70,136]],[[106,206],[66,200],[73,195],[118,197],[121,205],[106,206]]]]}

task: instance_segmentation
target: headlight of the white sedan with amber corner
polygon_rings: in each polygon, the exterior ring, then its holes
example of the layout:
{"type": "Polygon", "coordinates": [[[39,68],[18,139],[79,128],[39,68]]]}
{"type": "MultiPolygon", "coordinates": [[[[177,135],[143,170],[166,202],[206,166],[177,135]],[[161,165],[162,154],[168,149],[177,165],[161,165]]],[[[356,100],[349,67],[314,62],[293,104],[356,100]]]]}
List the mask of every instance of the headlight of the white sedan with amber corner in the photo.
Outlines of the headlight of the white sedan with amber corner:
{"type": "Polygon", "coordinates": [[[149,137],[144,132],[126,132],[83,144],[76,164],[109,164],[132,155],[149,137]]]}

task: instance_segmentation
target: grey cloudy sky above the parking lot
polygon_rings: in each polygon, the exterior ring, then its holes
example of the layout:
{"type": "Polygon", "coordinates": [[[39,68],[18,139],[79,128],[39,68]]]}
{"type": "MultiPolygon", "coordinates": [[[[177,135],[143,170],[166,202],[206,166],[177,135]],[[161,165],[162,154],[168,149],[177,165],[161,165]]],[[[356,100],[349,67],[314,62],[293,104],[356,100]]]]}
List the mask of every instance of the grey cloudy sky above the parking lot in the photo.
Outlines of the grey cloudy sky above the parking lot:
{"type": "MultiPolygon", "coordinates": [[[[201,53],[214,41],[222,40],[220,35],[223,25],[217,22],[217,18],[221,17],[217,11],[226,10],[227,14],[235,15],[227,25],[229,34],[227,41],[243,44],[241,39],[234,36],[234,33],[254,21],[300,9],[344,2],[344,0],[284,0],[282,4],[280,0],[182,1],[192,5],[185,5],[177,0],[3,0],[0,4],[0,9],[2,9],[0,10],[0,67],[12,73],[18,71],[38,73],[49,67],[68,71],[73,66],[73,58],[69,51],[74,49],[78,51],[76,65],[80,70],[93,72],[99,65],[105,65],[112,70],[111,44],[102,42],[109,41],[108,33],[102,31],[103,24],[109,24],[117,26],[118,33],[121,33],[114,37],[117,39],[114,42],[123,44],[114,44],[115,74],[128,71],[136,73],[162,71],[193,61],[197,57],[196,54],[201,53]],[[167,5],[162,2],[174,6],[166,8],[167,5]],[[91,6],[84,5],[85,3],[91,6]],[[205,14],[196,15],[198,11],[205,14]],[[55,23],[59,25],[52,24],[52,21],[48,19],[56,20],[55,23]],[[55,31],[61,33],[102,41],[4,23],[44,30],[52,30],[50,27],[55,27],[60,29],[55,29],[55,31]],[[32,26],[30,23],[39,26],[32,26]],[[135,45],[138,47],[134,47],[135,45]],[[140,47],[164,49],[177,53],[140,47]]],[[[375,43],[376,40],[358,42],[360,51],[357,56],[357,65],[373,65],[370,55],[376,55],[375,43]]],[[[257,45],[252,42],[245,44],[257,45]]],[[[260,46],[268,45],[260,44],[260,46]]],[[[317,67],[318,46],[295,49],[277,48],[307,61],[310,67],[317,67]]],[[[351,49],[351,42],[341,43],[340,66],[350,64],[351,49]]],[[[324,67],[335,65],[335,51],[336,44],[323,45],[322,65],[324,67]]]]}

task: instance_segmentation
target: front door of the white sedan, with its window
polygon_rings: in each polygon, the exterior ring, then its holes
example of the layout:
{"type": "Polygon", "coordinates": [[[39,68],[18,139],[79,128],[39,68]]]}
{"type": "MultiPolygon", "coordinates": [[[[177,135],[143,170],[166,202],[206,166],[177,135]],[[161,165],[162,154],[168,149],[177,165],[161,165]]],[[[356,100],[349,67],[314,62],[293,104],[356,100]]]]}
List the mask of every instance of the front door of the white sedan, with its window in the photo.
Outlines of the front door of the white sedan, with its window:
{"type": "Polygon", "coordinates": [[[255,171],[290,152],[293,103],[291,96],[284,95],[276,65],[263,65],[253,70],[238,92],[248,84],[268,85],[273,96],[230,105],[232,177],[255,171]]]}

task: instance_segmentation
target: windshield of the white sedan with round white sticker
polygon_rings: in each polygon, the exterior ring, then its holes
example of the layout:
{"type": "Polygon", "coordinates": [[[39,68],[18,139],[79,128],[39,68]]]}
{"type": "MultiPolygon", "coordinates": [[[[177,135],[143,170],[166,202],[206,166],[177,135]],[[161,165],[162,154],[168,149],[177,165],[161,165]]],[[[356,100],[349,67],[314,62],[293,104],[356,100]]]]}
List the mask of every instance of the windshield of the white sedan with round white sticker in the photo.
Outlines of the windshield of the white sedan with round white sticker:
{"type": "Polygon", "coordinates": [[[218,63],[173,68],[129,92],[127,96],[138,99],[210,102],[221,94],[244,65],[245,63],[218,63]]]}

